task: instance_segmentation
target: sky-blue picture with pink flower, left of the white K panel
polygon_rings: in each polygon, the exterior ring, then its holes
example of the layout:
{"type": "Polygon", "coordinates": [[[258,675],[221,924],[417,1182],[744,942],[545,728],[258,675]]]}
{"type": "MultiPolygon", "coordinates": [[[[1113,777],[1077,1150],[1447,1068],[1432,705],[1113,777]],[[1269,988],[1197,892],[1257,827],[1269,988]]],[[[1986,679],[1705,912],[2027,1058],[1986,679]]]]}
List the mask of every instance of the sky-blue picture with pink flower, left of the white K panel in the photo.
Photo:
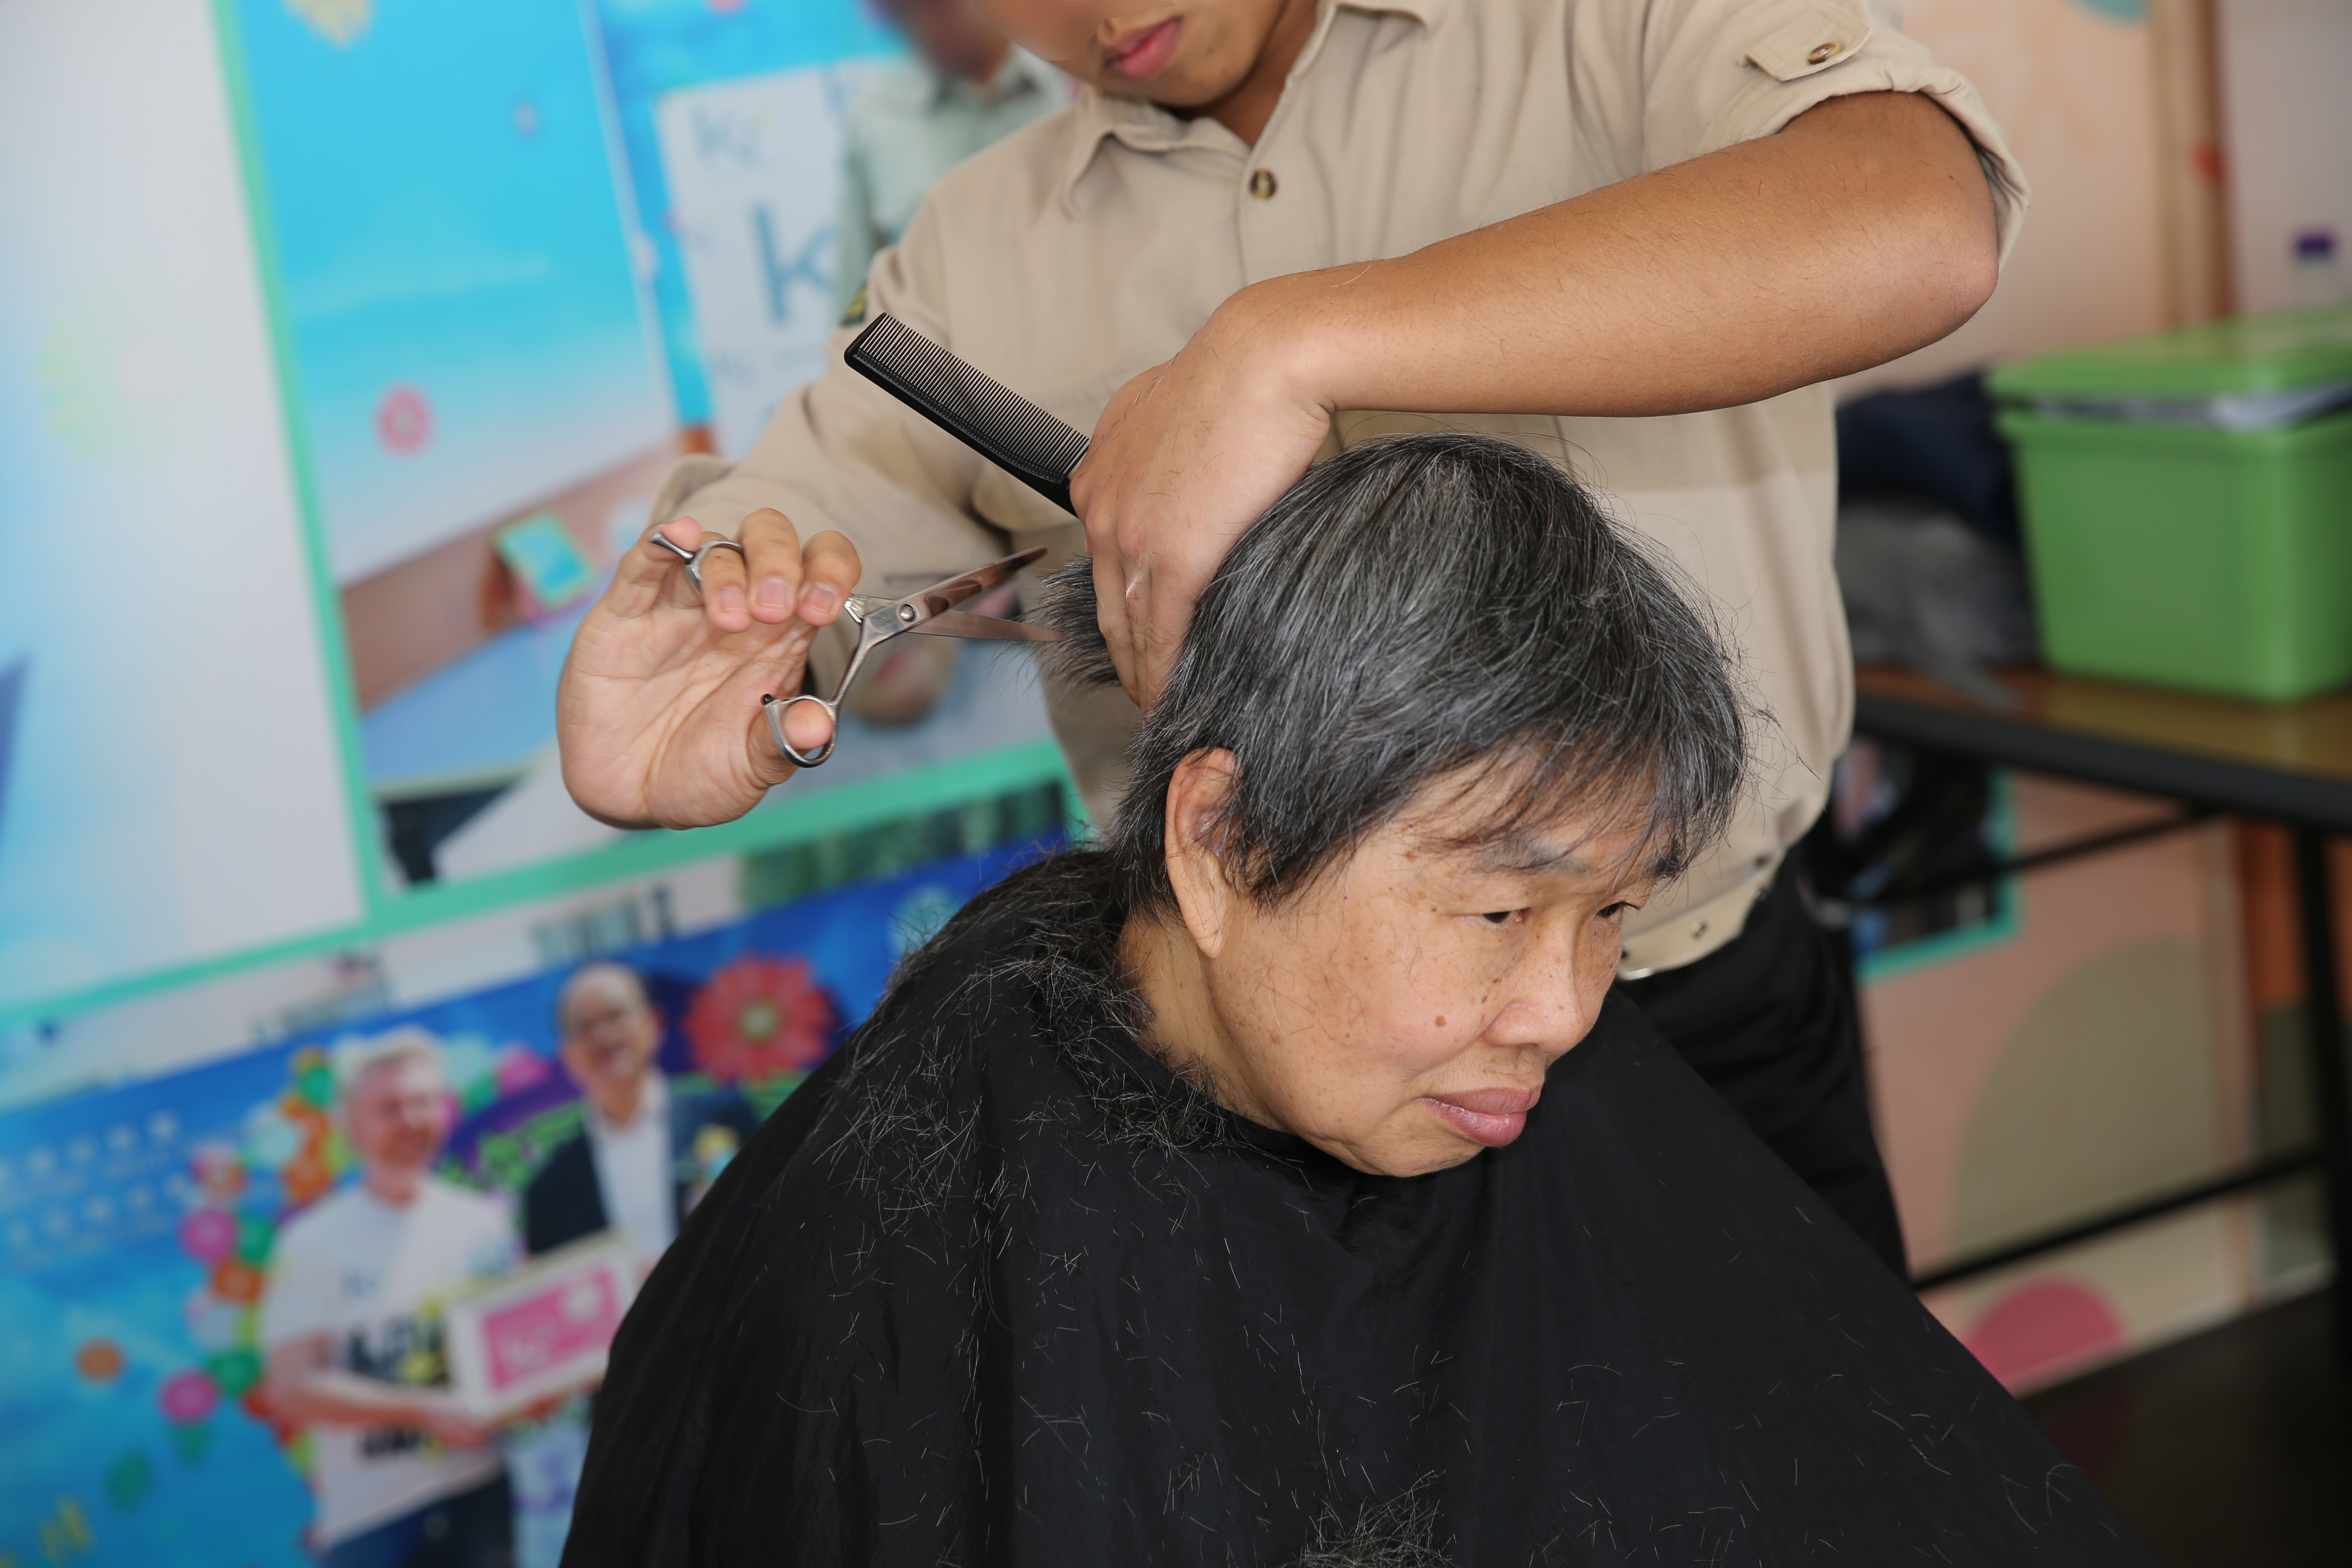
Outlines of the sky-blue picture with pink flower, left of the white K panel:
{"type": "Polygon", "coordinates": [[[238,0],[263,266],[393,886],[555,738],[675,428],[572,0],[238,0]]]}

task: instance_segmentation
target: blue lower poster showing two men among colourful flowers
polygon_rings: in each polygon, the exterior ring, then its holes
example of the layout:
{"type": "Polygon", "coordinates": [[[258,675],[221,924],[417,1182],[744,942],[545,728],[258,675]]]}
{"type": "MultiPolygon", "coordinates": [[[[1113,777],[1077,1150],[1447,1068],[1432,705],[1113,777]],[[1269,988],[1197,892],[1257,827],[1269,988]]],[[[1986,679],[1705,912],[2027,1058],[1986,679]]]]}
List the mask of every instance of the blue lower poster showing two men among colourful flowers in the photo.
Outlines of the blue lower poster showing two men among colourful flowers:
{"type": "Polygon", "coordinates": [[[750,912],[713,929],[557,957],[588,933],[567,917],[536,926],[555,961],[520,978],[0,1112],[0,1561],[294,1568],[322,1533],[503,1474],[517,1561],[553,1566],[579,1406],[489,1446],[303,1422],[273,1403],[273,1352],[341,1324],[334,1366],[447,1396],[442,1312],[466,1286],[590,1234],[649,1262],[896,959],[1056,837],[1000,837],[1037,823],[1009,804],[978,830],[934,813],[771,851],[731,867],[750,912]],[[1000,842],[908,860],[971,837],[1000,842]],[[600,1093],[630,1030],[668,1128],[649,1244],[586,1143],[583,1084],[600,1093]],[[409,1143],[369,1121],[402,1088],[433,1100],[397,1124],[409,1143]],[[423,1239],[372,1197],[400,1161],[423,1173],[423,1239]],[[334,1316],[325,1298],[353,1291],[381,1309],[334,1316]]]}

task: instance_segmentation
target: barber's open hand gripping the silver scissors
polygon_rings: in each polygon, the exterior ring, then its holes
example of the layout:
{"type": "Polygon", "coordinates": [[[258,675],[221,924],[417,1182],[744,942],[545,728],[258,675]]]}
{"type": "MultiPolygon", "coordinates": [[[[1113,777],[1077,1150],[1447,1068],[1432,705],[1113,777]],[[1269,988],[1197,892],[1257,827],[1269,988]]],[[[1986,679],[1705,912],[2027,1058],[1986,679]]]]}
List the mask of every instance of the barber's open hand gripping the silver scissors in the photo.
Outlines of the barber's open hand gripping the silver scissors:
{"type": "MultiPolygon", "coordinates": [[[[746,517],[739,541],[715,538],[691,517],[649,531],[572,642],[555,733],[564,785],[597,820],[729,823],[795,771],[760,698],[800,693],[816,630],[856,590],[858,552],[840,534],[802,545],[774,508],[746,517]],[[701,590],[682,557],[699,557],[701,590]]],[[[833,738],[816,703],[783,722],[804,752],[833,738]]]]}

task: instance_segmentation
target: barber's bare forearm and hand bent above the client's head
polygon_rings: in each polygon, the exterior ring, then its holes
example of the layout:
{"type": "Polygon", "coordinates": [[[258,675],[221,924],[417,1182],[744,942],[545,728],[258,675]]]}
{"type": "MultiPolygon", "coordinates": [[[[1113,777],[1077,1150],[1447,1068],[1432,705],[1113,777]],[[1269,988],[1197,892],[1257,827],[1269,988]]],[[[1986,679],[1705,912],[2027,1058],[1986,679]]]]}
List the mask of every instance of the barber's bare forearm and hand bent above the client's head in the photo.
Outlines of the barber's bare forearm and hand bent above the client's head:
{"type": "Polygon", "coordinates": [[[1070,480],[1120,679],[1155,698],[1200,590],[1334,411],[1757,402],[1933,343],[1994,268],[1969,136],[1926,99],[1856,94],[1411,256],[1251,284],[1117,390],[1070,480]]]}

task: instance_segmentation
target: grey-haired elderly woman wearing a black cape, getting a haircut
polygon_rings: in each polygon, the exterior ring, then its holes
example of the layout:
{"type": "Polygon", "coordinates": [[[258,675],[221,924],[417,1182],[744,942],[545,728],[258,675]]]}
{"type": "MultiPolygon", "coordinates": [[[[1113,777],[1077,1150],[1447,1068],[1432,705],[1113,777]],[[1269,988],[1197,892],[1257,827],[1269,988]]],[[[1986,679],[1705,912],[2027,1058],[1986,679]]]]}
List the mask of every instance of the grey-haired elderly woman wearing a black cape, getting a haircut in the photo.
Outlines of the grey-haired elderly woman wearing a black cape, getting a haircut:
{"type": "Polygon", "coordinates": [[[1555,465],[1312,470],[1103,844],[950,922],[696,1211],[567,1561],[2150,1561],[1611,994],[1748,741],[1555,465]]]}

